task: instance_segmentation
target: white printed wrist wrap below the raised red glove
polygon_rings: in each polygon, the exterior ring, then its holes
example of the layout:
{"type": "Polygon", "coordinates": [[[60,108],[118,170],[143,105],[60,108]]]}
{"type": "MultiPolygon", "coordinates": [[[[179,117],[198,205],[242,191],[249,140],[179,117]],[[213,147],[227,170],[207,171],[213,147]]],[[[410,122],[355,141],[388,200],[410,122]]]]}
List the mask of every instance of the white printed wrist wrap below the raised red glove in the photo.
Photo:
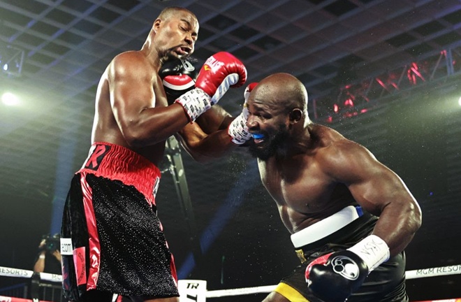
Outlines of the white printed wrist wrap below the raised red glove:
{"type": "Polygon", "coordinates": [[[177,98],[175,102],[181,104],[191,122],[213,105],[211,97],[200,88],[189,90],[177,98]]]}

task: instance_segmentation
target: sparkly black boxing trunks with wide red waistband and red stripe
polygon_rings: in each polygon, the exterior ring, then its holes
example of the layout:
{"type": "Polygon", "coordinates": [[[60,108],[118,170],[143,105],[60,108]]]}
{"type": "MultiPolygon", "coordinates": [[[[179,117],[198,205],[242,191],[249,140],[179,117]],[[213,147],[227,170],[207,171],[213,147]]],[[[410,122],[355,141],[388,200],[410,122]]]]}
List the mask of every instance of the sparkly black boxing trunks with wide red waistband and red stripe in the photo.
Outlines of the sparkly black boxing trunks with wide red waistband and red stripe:
{"type": "Polygon", "coordinates": [[[156,215],[160,171],[136,152],[94,143],[71,182],[61,225],[63,289],[179,296],[173,255],[156,215]]]}

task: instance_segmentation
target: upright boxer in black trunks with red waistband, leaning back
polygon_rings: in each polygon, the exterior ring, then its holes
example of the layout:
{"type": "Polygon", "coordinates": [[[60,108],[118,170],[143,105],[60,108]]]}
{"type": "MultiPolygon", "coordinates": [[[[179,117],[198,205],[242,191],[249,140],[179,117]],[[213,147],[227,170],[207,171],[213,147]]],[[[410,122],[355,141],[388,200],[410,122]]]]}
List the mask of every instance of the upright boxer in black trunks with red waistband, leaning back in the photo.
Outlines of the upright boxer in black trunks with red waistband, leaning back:
{"type": "Polygon", "coordinates": [[[92,147],[71,182],[61,226],[63,289],[71,301],[112,301],[112,294],[179,301],[175,262],[156,215],[157,166],[175,134],[198,159],[235,147],[227,131],[207,136],[224,120],[210,108],[247,78],[242,62],[218,52],[193,89],[168,104],[159,70],[193,53],[198,27],[189,10],[166,8],[141,50],[117,55],[101,76],[92,147]]]}

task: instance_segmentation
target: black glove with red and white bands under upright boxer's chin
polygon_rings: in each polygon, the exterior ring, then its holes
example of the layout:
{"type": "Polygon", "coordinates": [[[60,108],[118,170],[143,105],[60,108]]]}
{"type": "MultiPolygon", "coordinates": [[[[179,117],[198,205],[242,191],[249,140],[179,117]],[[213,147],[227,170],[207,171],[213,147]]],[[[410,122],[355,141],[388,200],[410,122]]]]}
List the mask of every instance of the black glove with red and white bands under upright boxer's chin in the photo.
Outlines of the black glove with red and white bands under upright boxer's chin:
{"type": "Polygon", "coordinates": [[[198,69],[194,66],[196,59],[175,59],[168,61],[159,71],[166,92],[168,104],[172,104],[182,94],[193,89],[198,76],[198,69]]]}

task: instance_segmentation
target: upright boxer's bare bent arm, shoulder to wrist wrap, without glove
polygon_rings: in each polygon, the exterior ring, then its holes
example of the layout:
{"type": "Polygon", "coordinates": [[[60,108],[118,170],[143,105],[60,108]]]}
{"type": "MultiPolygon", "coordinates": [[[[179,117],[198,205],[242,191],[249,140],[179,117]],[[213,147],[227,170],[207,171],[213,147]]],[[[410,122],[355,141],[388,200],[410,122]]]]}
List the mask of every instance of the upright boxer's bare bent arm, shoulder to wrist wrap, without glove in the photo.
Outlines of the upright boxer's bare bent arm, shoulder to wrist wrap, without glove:
{"type": "Polygon", "coordinates": [[[180,104],[159,106],[152,88],[156,74],[146,64],[142,55],[125,53],[108,69],[112,112],[126,142],[133,147],[164,141],[189,122],[180,104]]]}

